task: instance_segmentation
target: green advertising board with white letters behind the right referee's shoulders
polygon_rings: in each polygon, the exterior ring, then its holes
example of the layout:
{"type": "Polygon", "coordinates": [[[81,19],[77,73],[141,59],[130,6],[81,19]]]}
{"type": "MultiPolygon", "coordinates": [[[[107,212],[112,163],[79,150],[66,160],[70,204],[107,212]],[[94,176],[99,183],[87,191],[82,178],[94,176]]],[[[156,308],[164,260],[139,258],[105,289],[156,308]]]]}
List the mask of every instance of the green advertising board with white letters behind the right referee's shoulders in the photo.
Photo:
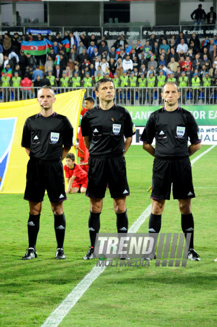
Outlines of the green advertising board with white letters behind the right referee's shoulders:
{"type": "MultiPolygon", "coordinates": [[[[131,114],[136,126],[145,126],[151,112],[159,106],[125,107],[131,114]]],[[[198,125],[217,125],[217,106],[185,106],[194,115],[198,125]]]]}

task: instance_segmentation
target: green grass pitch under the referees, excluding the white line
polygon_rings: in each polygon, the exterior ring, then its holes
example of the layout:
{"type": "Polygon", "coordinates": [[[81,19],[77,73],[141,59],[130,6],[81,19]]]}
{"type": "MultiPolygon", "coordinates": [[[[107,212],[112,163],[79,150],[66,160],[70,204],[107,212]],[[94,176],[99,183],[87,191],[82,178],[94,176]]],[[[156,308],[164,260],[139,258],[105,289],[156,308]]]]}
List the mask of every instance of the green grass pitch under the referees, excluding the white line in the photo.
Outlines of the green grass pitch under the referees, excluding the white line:
{"type": "MultiPolygon", "coordinates": [[[[192,159],[210,146],[202,146],[192,159]]],[[[129,226],[151,203],[153,158],[142,146],[126,154],[131,196],[129,226]]],[[[196,199],[195,250],[200,262],[187,267],[108,267],[92,283],[60,326],[217,326],[217,147],[193,164],[196,199]]],[[[0,195],[0,326],[41,326],[96,265],[84,261],[88,250],[89,199],[70,194],[65,201],[66,260],[54,260],[54,218],[45,196],[37,241],[38,258],[22,261],[27,249],[28,202],[22,194],[0,195]]],[[[116,232],[116,215],[107,191],[101,232],[116,232]]],[[[166,202],[161,232],[182,232],[176,200],[166,202]]],[[[147,232],[148,218],[138,232],[147,232]]]]}

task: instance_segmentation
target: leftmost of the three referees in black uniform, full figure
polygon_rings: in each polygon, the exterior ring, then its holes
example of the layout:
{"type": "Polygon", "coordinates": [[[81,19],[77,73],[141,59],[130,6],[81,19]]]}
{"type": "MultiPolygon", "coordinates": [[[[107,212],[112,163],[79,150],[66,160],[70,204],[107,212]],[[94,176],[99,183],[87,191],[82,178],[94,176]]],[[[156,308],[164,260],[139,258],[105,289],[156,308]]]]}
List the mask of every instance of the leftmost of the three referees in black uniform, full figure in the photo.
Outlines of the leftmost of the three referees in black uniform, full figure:
{"type": "Polygon", "coordinates": [[[23,127],[21,146],[30,157],[27,164],[24,199],[29,201],[29,248],[22,260],[37,257],[36,240],[45,190],[54,214],[57,239],[55,259],[65,259],[63,250],[66,219],[63,201],[67,200],[62,160],[72,146],[73,128],[66,116],[53,111],[56,98],[49,86],[39,89],[40,112],[28,117],[23,127]]]}

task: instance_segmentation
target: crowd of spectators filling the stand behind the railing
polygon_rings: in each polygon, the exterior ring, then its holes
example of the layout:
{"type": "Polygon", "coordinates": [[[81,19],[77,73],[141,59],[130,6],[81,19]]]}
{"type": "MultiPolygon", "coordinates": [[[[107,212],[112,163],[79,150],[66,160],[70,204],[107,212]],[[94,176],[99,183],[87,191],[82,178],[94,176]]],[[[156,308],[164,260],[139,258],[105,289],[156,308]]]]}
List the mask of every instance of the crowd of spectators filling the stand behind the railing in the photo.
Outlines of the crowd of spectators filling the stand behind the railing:
{"type": "Polygon", "coordinates": [[[60,33],[55,38],[47,37],[53,44],[47,54],[31,55],[20,50],[21,41],[31,44],[43,39],[41,34],[33,37],[31,33],[22,38],[18,34],[12,38],[5,34],[0,39],[1,87],[6,87],[1,88],[4,102],[10,100],[11,90],[15,100],[34,98],[37,90],[33,87],[43,85],[53,86],[57,93],[83,87],[87,96],[93,96],[95,83],[103,77],[113,80],[119,104],[129,100],[133,105],[135,99],[140,104],[149,99],[152,104],[156,94],[161,104],[160,88],[166,81],[175,81],[183,88],[182,103],[188,93],[193,94],[194,103],[200,97],[206,101],[211,92],[217,94],[217,36],[200,40],[194,32],[187,40],[180,32],[177,38],[172,36],[168,40],[161,36],[157,40],[152,34],[150,39],[138,40],[132,47],[121,35],[109,48],[105,36],[96,40],[94,35],[86,38],[82,34],[76,47],[73,33],[65,31],[63,38],[60,33]],[[68,53],[62,44],[66,39],[70,43],[68,53]]]}

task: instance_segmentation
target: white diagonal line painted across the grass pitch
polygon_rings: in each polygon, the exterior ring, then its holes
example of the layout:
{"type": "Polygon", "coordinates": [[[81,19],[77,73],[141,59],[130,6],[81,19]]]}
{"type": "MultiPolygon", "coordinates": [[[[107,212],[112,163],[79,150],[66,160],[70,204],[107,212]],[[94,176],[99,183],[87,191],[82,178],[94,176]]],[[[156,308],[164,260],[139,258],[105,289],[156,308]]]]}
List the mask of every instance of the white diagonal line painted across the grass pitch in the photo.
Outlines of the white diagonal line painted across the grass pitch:
{"type": "MultiPolygon", "coordinates": [[[[208,150],[204,151],[201,155],[192,160],[191,163],[195,163],[203,155],[208,153],[215,147],[212,146],[208,150]]],[[[151,213],[151,204],[145,209],[142,215],[133,223],[129,228],[129,233],[136,233],[140,226],[144,223],[145,219],[151,213]]],[[[66,299],[59,305],[59,307],[52,312],[52,314],[47,318],[42,327],[57,327],[62,320],[66,317],[68,312],[73,308],[79,298],[85,293],[85,291],[90,287],[92,282],[102,273],[106,267],[93,267],[91,272],[89,272],[73,289],[72,292],[66,297],[66,299]]]]}

